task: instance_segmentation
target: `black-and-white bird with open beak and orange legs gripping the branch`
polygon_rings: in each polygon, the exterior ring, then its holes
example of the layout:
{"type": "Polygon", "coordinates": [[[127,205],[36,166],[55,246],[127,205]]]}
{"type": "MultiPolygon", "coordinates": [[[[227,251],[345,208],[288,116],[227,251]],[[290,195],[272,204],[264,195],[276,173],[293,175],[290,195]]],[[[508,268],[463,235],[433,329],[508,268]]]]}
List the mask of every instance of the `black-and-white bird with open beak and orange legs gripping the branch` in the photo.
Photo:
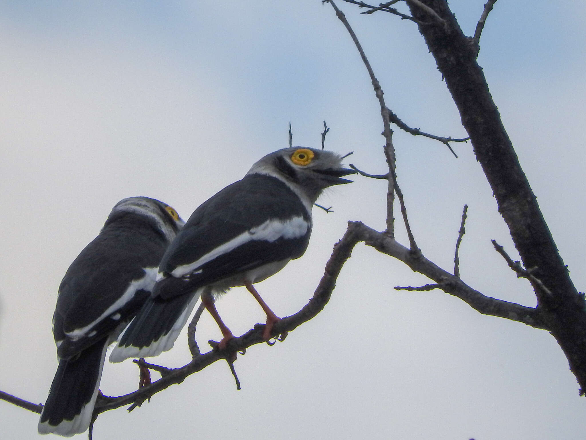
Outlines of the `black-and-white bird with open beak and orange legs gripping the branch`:
{"type": "Polygon", "coordinates": [[[331,151],[284,148],[253,165],[193,212],[159,265],[151,296],[122,334],[110,361],[157,356],[173,347],[197,299],[223,334],[220,348],[233,338],[214,306],[214,296],[246,286],[267,314],[268,340],[280,318],[253,284],[274,275],[305,252],[311,235],[311,208],[323,189],[349,183],[331,151]]]}

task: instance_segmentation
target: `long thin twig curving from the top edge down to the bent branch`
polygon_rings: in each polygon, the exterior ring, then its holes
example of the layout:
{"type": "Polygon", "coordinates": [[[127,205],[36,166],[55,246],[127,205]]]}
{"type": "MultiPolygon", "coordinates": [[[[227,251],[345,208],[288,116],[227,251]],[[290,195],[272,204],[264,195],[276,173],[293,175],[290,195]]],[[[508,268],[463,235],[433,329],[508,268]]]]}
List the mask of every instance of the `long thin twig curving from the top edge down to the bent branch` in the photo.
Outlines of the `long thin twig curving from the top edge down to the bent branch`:
{"type": "Polygon", "coordinates": [[[366,66],[366,70],[368,70],[368,73],[370,76],[370,81],[372,82],[372,86],[374,89],[374,94],[376,94],[377,99],[379,99],[380,116],[383,118],[383,128],[384,128],[382,134],[383,134],[384,139],[386,141],[386,143],[384,145],[384,155],[386,157],[387,164],[389,165],[389,189],[387,189],[387,221],[386,221],[387,222],[387,233],[390,236],[394,236],[393,202],[394,202],[394,197],[395,197],[394,173],[395,173],[395,169],[396,169],[396,158],[395,158],[395,149],[393,147],[393,130],[391,130],[391,124],[389,121],[389,109],[387,108],[386,104],[384,103],[384,97],[383,97],[384,93],[383,93],[383,89],[380,87],[379,80],[377,80],[376,76],[374,76],[374,71],[372,69],[372,66],[370,66],[369,60],[366,57],[366,53],[364,53],[364,50],[362,49],[362,45],[360,45],[360,42],[358,41],[358,38],[356,36],[356,33],[354,33],[352,26],[350,26],[350,23],[347,21],[346,16],[344,15],[344,13],[342,11],[340,11],[340,9],[338,9],[338,6],[336,6],[336,4],[333,2],[333,0],[327,0],[327,1],[329,2],[329,4],[332,5],[332,8],[334,9],[334,11],[336,11],[336,16],[343,23],[346,30],[350,34],[352,41],[356,45],[356,49],[358,49],[358,52],[360,53],[360,57],[362,58],[362,62],[364,63],[364,66],[366,66]]]}

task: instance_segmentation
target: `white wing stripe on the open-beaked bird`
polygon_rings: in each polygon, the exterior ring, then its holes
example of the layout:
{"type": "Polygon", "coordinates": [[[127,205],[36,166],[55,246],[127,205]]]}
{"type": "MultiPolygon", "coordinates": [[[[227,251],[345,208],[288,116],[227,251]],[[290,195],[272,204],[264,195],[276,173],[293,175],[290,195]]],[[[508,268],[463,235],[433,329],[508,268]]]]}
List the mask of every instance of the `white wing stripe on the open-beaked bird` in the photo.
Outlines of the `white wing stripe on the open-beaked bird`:
{"type": "MultiPolygon", "coordinates": [[[[223,243],[213,249],[213,251],[206,253],[202,258],[196,260],[193,263],[189,263],[183,266],[177,266],[171,275],[174,277],[182,277],[188,273],[193,272],[199,266],[205,265],[205,263],[211,260],[229,253],[238,246],[243,245],[253,240],[264,240],[268,242],[274,242],[280,238],[294,239],[304,236],[309,229],[309,223],[303,217],[293,217],[288,220],[282,221],[278,219],[268,219],[262,225],[250,228],[250,230],[241,233],[239,236],[234,237],[229,242],[223,243]]],[[[161,274],[159,274],[161,277],[161,274]]]]}

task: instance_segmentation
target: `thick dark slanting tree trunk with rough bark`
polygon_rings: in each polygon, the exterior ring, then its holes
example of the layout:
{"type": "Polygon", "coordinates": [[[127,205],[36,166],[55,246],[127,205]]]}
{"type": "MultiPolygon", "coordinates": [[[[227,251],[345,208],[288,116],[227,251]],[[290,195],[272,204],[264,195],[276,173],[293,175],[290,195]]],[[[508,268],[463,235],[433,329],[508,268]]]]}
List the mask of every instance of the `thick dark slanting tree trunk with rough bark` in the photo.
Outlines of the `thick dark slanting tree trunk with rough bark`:
{"type": "Polygon", "coordinates": [[[490,95],[478,46],[465,36],[445,0],[421,0],[443,23],[420,5],[408,2],[419,30],[444,76],[477,160],[492,188],[499,212],[527,269],[547,289],[536,287],[540,316],[556,338],[586,391],[586,308],[558,252],[537,199],[519,164],[513,145],[490,95]],[[428,23],[428,24],[424,24],[428,23]]]}

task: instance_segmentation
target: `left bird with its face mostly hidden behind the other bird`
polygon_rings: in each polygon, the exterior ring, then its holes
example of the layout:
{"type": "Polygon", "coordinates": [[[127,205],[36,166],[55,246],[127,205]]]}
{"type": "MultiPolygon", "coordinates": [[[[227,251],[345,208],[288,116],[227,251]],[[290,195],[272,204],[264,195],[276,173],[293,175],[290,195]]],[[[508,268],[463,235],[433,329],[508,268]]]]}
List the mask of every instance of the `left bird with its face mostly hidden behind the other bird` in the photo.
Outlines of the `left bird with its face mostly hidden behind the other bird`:
{"type": "Polygon", "coordinates": [[[71,436],[89,427],[106,348],[155,285],[159,262],[184,222],[148,197],[118,202],[59,286],[53,336],[59,367],[39,433],[71,436]]]}

